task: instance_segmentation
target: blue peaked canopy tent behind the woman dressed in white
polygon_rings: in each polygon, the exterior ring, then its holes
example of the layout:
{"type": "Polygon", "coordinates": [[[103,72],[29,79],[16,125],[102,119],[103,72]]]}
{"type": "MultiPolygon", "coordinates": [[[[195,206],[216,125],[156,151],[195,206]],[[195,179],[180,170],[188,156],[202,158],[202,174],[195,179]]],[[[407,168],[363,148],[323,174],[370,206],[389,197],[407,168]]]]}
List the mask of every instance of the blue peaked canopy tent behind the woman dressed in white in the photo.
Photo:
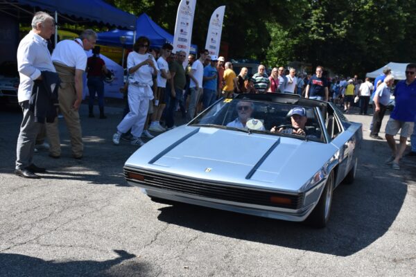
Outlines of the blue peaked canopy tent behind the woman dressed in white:
{"type": "MultiPolygon", "coordinates": [[[[160,27],[143,13],[137,18],[136,21],[136,38],[140,36],[146,36],[150,39],[151,46],[160,47],[164,43],[173,43],[173,35],[166,32],[164,28],[160,27]]],[[[134,32],[130,30],[111,30],[109,32],[98,33],[97,44],[107,46],[125,46],[132,47],[134,32]],[[125,37],[125,42],[121,42],[121,38],[125,37]]],[[[196,53],[197,46],[191,44],[191,53],[196,53]]]]}

